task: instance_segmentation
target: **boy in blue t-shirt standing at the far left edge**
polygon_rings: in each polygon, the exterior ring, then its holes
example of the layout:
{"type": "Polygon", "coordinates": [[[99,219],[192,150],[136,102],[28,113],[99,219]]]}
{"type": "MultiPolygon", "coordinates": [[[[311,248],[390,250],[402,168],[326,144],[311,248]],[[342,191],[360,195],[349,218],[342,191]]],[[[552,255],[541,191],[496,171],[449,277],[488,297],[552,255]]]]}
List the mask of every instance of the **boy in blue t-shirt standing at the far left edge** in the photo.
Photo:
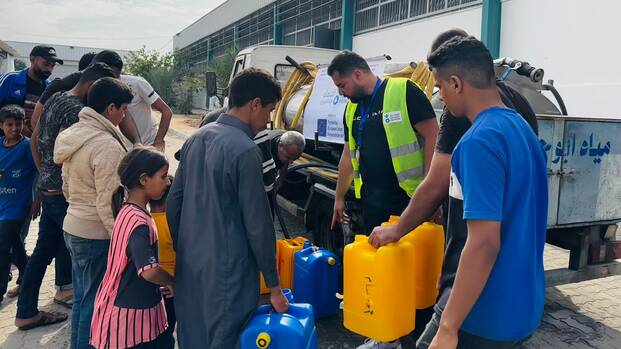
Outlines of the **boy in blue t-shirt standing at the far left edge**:
{"type": "Polygon", "coordinates": [[[11,262],[20,277],[26,268],[26,250],[19,234],[30,219],[32,185],[37,173],[30,141],[22,136],[24,109],[7,105],[0,109],[4,137],[0,137],[0,301],[7,290],[11,262]]]}

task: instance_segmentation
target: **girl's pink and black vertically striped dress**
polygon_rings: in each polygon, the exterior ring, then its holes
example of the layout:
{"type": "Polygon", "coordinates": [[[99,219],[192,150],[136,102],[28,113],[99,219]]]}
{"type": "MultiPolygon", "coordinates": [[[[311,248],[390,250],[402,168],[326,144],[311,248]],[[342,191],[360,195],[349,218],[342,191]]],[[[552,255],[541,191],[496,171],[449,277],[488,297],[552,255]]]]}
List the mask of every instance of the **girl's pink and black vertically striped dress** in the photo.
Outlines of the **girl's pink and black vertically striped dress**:
{"type": "MultiPolygon", "coordinates": [[[[159,286],[145,284],[146,281],[133,278],[133,275],[129,275],[128,278],[127,273],[124,275],[126,269],[136,271],[132,265],[134,262],[127,255],[130,237],[135,231],[146,230],[147,227],[149,243],[156,246],[155,225],[147,212],[138,206],[126,204],[116,217],[108,252],[106,274],[97,290],[91,322],[90,344],[97,349],[124,349],[151,342],[168,327],[166,310],[159,295],[159,286]],[[129,286],[132,286],[123,281],[130,278],[135,280],[134,283],[144,284],[142,287],[148,288],[147,293],[151,298],[153,298],[152,292],[156,292],[159,302],[156,301],[149,307],[121,306],[119,303],[123,302],[119,300],[121,298],[119,295],[127,293],[129,286]],[[151,286],[154,289],[150,289],[151,286]]],[[[157,259],[152,257],[149,259],[149,264],[137,270],[137,274],[140,275],[145,270],[156,266],[158,266],[157,259]]]]}

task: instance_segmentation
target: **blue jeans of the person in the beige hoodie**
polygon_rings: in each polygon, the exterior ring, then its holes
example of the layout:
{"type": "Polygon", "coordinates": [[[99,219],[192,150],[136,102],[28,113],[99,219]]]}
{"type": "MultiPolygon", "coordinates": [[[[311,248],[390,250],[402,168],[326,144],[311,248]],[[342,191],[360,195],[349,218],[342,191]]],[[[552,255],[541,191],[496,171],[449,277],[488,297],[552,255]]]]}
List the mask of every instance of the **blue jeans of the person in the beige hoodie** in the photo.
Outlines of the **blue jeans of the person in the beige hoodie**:
{"type": "Polygon", "coordinates": [[[65,232],[73,270],[71,348],[91,348],[89,338],[95,295],[106,273],[110,240],[91,240],[65,232]]]}

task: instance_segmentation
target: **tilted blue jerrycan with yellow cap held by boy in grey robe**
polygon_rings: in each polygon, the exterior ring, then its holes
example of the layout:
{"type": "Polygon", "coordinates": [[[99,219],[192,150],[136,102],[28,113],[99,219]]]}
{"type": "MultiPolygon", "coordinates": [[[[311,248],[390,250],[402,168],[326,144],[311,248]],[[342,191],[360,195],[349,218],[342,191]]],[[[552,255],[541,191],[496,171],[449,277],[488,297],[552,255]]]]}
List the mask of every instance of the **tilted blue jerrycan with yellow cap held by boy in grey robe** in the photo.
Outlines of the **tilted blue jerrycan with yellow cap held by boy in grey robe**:
{"type": "Polygon", "coordinates": [[[282,314],[262,305],[255,311],[240,337],[241,349],[318,349],[313,307],[293,303],[291,290],[283,290],[289,309],[282,314]]]}

